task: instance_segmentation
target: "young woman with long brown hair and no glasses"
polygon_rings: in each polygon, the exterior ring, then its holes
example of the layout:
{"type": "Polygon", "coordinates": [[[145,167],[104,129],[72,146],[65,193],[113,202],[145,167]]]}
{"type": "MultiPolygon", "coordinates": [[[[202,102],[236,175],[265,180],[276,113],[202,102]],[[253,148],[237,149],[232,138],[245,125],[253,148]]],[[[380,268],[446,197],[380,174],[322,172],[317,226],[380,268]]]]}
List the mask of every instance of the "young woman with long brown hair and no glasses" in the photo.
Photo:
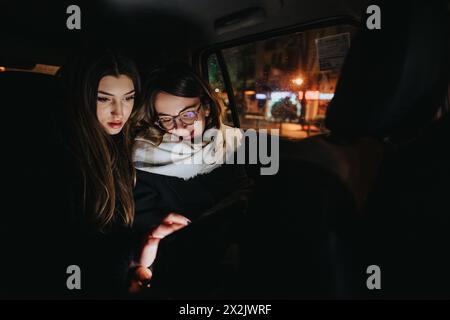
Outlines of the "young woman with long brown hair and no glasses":
{"type": "Polygon", "coordinates": [[[70,249],[83,292],[125,286],[135,170],[129,118],[140,91],[134,63],[113,51],[78,56],[62,70],[66,90],[70,249]]]}

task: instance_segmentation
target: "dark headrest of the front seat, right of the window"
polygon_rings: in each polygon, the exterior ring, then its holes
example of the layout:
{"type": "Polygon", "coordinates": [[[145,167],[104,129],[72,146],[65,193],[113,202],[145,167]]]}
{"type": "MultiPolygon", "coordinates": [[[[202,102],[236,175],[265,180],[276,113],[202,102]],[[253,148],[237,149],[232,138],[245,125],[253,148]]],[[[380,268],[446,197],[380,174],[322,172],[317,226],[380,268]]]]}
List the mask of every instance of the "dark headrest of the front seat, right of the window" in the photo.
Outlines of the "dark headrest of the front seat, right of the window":
{"type": "Polygon", "coordinates": [[[381,29],[364,21],[327,110],[326,126],[338,136],[413,133],[433,119],[447,90],[448,1],[377,5],[381,29]]]}

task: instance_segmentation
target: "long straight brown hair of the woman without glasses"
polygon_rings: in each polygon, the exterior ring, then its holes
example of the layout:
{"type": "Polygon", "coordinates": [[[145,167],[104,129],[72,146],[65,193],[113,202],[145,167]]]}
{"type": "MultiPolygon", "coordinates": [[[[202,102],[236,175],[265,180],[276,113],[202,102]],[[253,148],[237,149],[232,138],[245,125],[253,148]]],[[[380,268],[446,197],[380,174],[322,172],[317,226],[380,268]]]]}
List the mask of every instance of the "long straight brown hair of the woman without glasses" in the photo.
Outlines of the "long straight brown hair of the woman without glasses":
{"type": "Polygon", "coordinates": [[[70,147],[82,173],[84,211],[97,229],[113,223],[130,226],[134,217],[135,169],[131,159],[131,123],[110,136],[97,118],[97,92],[105,76],[126,75],[140,92],[139,73],[133,61],[112,51],[76,58],[62,72],[66,92],[70,147]]]}

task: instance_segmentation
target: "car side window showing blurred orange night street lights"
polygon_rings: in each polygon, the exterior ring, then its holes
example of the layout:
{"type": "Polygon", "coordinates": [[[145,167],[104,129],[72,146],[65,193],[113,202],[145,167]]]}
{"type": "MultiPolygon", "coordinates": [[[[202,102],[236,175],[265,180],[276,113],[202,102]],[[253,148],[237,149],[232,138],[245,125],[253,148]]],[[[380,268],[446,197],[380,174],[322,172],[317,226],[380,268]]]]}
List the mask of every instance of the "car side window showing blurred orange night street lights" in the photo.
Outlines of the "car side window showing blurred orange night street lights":
{"type": "Polygon", "coordinates": [[[355,30],[352,25],[315,28],[209,54],[208,79],[226,106],[224,121],[232,124],[219,54],[243,129],[279,129],[291,139],[326,132],[326,109],[355,30]]]}

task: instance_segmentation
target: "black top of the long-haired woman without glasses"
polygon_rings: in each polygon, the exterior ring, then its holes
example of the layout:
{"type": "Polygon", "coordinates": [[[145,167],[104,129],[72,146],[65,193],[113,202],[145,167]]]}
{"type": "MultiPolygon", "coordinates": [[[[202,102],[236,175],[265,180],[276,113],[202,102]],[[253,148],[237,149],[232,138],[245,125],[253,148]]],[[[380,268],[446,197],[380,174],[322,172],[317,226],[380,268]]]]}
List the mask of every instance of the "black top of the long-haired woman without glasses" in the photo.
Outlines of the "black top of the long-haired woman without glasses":
{"type": "Polygon", "coordinates": [[[135,243],[131,227],[113,224],[100,232],[89,220],[82,204],[81,169],[69,147],[65,150],[68,205],[65,234],[59,260],[81,269],[81,290],[65,290],[75,298],[122,298],[127,290],[127,272],[135,243]]]}

